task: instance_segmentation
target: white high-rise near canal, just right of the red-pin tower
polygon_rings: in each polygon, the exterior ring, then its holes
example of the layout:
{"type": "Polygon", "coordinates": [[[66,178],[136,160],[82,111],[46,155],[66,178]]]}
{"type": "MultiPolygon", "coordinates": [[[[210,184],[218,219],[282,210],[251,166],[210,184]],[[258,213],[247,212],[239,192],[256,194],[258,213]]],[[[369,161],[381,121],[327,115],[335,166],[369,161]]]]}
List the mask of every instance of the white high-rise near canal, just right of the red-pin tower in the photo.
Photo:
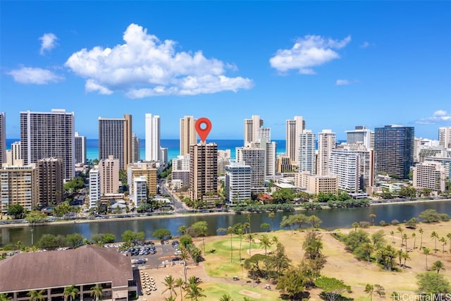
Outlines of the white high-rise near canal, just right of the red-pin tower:
{"type": "Polygon", "coordinates": [[[251,166],[231,162],[226,166],[226,201],[230,206],[251,198],[251,166]]]}

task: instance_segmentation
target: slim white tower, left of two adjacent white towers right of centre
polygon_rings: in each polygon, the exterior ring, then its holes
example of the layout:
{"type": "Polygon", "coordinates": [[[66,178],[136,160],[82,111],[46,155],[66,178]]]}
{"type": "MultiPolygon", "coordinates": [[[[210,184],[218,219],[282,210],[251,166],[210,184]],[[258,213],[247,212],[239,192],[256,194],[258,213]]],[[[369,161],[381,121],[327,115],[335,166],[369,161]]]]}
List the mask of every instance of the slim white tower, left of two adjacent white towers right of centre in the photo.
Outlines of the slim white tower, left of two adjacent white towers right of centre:
{"type": "Polygon", "coordinates": [[[299,158],[297,159],[297,170],[299,173],[309,171],[311,174],[316,173],[315,151],[316,151],[316,135],[311,130],[303,130],[299,134],[299,158]]]}

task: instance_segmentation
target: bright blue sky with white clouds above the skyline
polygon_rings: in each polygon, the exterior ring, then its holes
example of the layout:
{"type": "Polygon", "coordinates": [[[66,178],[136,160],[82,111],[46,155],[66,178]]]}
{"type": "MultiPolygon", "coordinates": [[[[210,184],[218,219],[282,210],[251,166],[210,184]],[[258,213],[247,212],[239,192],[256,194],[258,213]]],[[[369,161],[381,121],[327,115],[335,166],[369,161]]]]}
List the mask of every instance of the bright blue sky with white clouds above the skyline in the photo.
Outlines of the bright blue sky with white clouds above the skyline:
{"type": "Polygon", "coordinates": [[[273,139],[304,116],[338,139],[354,125],[451,126],[451,1],[0,1],[0,111],[161,116],[178,138],[185,115],[209,139],[242,139],[259,115],[273,139]]]}

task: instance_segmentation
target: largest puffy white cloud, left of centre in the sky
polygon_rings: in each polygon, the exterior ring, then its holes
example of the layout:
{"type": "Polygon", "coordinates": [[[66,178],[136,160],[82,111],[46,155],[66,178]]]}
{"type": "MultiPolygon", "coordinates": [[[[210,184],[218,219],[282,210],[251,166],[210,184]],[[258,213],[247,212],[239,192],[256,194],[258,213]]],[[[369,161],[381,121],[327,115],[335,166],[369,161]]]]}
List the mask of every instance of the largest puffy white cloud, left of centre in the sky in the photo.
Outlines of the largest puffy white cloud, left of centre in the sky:
{"type": "Polygon", "coordinates": [[[158,95],[195,95],[250,89],[249,78],[228,78],[233,64],[206,59],[202,51],[175,49],[176,42],[159,40],[140,25],[130,24],[123,34],[125,44],[112,48],[81,49],[65,66],[86,78],[87,92],[111,94],[124,91],[130,98],[158,95]]]}

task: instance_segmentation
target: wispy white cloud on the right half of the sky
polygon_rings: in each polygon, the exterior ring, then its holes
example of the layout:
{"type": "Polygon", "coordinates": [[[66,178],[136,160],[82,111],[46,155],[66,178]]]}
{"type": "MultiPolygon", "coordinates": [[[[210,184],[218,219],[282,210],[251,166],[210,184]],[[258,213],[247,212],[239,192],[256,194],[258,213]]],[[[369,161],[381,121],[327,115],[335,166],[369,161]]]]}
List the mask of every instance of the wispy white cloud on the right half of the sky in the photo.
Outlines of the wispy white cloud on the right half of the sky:
{"type": "Polygon", "coordinates": [[[269,59],[271,67],[286,72],[297,69],[301,74],[315,74],[312,67],[323,65],[340,55],[333,49],[342,49],[351,41],[351,36],[341,41],[325,39],[319,35],[306,35],[296,40],[291,49],[278,49],[269,59]]]}

